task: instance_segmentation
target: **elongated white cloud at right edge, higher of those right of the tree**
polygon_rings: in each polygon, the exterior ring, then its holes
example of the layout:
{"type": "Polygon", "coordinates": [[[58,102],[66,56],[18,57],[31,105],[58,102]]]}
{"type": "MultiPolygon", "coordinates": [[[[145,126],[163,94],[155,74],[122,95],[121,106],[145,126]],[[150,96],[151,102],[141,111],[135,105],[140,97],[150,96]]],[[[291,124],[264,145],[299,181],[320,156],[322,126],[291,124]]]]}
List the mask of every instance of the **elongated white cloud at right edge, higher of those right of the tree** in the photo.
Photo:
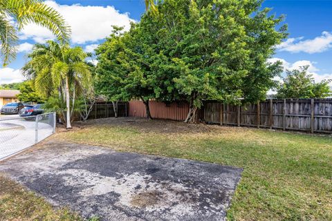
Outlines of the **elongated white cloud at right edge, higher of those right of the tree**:
{"type": "Polygon", "coordinates": [[[280,51],[306,52],[309,54],[324,52],[332,48],[332,33],[322,32],[322,35],[315,39],[303,40],[304,37],[290,38],[277,46],[280,51]],[[303,41],[302,41],[303,40],[303,41]]]}

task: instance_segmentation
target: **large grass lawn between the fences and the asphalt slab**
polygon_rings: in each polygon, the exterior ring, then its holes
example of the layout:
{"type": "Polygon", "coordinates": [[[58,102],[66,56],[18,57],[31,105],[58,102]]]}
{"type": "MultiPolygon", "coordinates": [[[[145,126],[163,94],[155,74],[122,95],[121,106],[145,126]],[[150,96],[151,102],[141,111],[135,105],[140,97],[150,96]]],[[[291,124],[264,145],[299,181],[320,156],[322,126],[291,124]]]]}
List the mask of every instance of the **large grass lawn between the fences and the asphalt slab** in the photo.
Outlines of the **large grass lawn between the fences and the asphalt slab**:
{"type": "Polygon", "coordinates": [[[229,220],[332,220],[331,136],[141,119],[101,122],[55,139],[241,167],[229,220]]]}

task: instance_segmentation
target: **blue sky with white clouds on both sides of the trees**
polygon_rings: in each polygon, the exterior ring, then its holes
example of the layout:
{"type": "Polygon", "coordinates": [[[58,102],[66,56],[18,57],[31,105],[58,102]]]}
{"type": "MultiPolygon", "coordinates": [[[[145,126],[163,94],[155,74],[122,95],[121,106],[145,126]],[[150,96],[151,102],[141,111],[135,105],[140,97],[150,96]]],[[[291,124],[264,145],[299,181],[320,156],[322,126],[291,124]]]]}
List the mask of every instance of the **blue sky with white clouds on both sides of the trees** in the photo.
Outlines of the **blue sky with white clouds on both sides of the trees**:
{"type": "MultiPolygon", "coordinates": [[[[57,9],[72,26],[72,44],[92,51],[111,32],[111,25],[129,27],[145,12],[143,0],[57,0],[46,1],[57,9]]],[[[267,0],[264,7],[285,15],[289,37],[278,46],[271,61],[283,61],[288,69],[310,65],[317,81],[332,78],[332,0],[267,0]]],[[[53,36],[44,28],[27,26],[20,33],[17,59],[7,68],[0,68],[0,84],[22,81],[20,68],[26,53],[36,42],[53,36]]]]}

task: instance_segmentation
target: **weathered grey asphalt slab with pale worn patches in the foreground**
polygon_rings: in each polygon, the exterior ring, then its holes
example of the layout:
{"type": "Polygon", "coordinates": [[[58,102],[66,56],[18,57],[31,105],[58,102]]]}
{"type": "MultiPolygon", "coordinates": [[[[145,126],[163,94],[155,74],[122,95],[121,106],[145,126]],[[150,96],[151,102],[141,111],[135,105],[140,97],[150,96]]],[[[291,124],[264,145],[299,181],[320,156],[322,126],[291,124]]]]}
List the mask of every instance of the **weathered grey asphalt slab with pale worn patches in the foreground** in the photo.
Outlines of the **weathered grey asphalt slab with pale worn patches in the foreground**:
{"type": "Polygon", "coordinates": [[[62,142],[0,164],[0,172],[55,205],[116,221],[225,220],[241,171],[62,142]]]}

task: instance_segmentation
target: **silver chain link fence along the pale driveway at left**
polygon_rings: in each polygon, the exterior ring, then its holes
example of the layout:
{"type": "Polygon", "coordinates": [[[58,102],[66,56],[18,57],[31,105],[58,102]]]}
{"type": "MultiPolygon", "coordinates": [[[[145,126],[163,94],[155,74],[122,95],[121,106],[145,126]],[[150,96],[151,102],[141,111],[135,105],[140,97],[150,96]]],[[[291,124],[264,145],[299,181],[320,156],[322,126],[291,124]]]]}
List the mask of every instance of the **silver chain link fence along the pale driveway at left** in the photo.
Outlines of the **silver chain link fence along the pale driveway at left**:
{"type": "Polygon", "coordinates": [[[0,160],[55,133],[55,113],[31,117],[0,116],[0,160]]]}

